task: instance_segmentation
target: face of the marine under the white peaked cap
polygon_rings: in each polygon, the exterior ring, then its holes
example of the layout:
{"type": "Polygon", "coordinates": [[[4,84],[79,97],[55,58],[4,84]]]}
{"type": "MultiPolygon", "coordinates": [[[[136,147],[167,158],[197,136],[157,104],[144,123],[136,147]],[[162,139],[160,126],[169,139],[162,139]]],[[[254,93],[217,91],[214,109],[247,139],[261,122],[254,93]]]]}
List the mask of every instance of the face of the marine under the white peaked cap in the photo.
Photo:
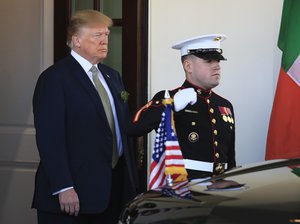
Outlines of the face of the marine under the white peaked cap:
{"type": "Polygon", "coordinates": [[[220,83],[221,67],[217,60],[191,56],[184,61],[184,68],[187,80],[205,90],[212,89],[220,83]]]}

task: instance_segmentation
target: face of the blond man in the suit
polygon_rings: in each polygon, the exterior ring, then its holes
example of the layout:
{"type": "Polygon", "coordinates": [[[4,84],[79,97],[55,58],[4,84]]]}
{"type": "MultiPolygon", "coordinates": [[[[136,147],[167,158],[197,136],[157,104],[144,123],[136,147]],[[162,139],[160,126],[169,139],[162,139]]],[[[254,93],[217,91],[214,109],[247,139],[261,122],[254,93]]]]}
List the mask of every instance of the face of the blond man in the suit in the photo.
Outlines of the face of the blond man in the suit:
{"type": "Polygon", "coordinates": [[[97,64],[107,56],[108,35],[108,27],[102,25],[81,28],[72,38],[73,50],[92,64],[97,64]]]}

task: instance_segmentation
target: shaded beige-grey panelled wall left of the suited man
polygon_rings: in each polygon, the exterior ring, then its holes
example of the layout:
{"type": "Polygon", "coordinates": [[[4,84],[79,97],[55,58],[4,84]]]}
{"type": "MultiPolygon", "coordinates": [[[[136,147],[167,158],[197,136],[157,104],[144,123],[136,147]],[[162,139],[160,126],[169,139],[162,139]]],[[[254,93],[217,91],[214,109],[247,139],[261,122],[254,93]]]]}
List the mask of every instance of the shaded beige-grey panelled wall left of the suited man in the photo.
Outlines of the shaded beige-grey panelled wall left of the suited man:
{"type": "Polygon", "coordinates": [[[53,63],[53,0],[0,1],[0,223],[35,224],[35,82],[53,63]]]}

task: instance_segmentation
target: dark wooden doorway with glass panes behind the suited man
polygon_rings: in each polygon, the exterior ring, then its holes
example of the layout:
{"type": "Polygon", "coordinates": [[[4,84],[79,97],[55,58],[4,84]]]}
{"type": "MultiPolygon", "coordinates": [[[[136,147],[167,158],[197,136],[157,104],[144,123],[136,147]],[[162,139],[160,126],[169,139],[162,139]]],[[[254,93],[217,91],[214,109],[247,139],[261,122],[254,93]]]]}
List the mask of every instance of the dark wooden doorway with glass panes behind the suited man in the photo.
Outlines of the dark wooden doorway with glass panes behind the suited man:
{"type": "MultiPolygon", "coordinates": [[[[89,8],[102,11],[107,1],[90,0],[89,8]]],[[[130,93],[129,108],[135,111],[147,103],[148,77],[148,0],[123,0],[122,18],[113,18],[114,27],[121,27],[121,69],[126,90],[130,93]]],[[[85,2],[86,3],[86,2],[85,2]]],[[[54,0],[54,61],[69,53],[66,29],[74,8],[74,0],[54,0]],[[72,5],[73,4],[73,5],[72,5]]],[[[133,139],[140,190],[147,188],[147,139],[133,139]]]]}

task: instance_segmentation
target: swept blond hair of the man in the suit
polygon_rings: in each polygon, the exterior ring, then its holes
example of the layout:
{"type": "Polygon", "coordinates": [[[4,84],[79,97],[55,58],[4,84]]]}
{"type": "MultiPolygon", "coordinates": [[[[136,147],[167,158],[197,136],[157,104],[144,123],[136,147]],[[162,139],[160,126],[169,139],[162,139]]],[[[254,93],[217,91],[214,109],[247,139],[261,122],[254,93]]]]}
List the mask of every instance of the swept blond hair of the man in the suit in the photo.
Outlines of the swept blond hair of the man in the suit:
{"type": "Polygon", "coordinates": [[[79,33],[81,28],[93,27],[99,24],[111,27],[113,25],[113,21],[105,14],[91,9],[75,12],[69,21],[67,30],[67,45],[72,49],[72,36],[79,33]]]}

